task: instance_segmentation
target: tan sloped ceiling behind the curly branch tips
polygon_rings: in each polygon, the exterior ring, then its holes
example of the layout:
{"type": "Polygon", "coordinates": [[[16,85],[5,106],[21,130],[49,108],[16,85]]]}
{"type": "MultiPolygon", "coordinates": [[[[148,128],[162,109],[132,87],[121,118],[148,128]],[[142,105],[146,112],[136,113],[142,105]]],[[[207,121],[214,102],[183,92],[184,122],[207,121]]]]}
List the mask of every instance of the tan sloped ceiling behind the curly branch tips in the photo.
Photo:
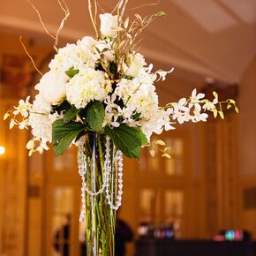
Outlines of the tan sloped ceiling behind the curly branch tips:
{"type": "MultiPolygon", "coordinates": [[[[105,11],[112,11],[117,4],[113,0],[98,2],[105,11]]],[[[63,18],[57,1],[33,0],[33,3],[49,31],[56,32],[63,18]]],[[[93,35],[87,0],[66,0],[66,3],[71,16],[64,26],[61,41],[76,41],[84,35],[93,35]]],[[[164,68],[174,66],[177,75],[239,83],[256,54],[255,0],[162,0],[155,6],[131,10],[148,3],[148,0],[130,0],[127,13],[130,17],[132,13],[147,15],[156,11],[168,14],[155,20],[143,34],[140,51],[150,61],[164,68]]],[[[51,43],[26,0],[1,4],[0,29],[51,43]]]]}

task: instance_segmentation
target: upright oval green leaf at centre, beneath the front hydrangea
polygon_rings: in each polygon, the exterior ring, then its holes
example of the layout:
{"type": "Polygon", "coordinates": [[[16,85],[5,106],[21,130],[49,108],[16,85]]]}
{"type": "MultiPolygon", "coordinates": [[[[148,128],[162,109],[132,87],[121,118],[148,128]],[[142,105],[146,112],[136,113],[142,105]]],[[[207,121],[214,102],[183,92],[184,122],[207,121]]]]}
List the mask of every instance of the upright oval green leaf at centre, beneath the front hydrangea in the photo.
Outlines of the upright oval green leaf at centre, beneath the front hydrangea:
{"type": "Polygon", "coordinates": [[[105,109],[102,102],[94,101],[87,109],[87,123],[96,132],[102,130],[105,109]]]}

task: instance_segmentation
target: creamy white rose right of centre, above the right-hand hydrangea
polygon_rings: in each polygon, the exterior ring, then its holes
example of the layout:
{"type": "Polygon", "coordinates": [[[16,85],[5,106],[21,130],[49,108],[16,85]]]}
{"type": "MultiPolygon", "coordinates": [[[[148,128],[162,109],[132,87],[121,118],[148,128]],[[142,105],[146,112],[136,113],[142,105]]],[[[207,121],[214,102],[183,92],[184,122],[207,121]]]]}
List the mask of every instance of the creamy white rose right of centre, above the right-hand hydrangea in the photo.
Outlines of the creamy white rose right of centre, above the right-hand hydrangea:
{"type": "Polygon", "coordinates": [[[126,63],[123,64],[124,73],[127,76],[136,78],[139,76],[140,72],[143,70],[143,66],[146,64],[145,58],[137,53],[134,56],[130,55],[127,57],[126,63]]]}

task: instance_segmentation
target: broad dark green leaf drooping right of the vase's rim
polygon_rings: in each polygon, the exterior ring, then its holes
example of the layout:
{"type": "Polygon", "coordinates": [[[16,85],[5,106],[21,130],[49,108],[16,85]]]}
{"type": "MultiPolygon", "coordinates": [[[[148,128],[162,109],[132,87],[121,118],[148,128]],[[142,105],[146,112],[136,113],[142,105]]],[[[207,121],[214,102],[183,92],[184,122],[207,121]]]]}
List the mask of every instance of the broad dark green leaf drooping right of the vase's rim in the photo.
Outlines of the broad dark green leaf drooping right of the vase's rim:
{"type": "Polygon", "coordinates": [[[113,129],[106,127],[105,132],[113,140],[114,144],[127,157],[138,158],[141,147],[142,135],[140,130],[134,127],[121,124],[113,129]]]}

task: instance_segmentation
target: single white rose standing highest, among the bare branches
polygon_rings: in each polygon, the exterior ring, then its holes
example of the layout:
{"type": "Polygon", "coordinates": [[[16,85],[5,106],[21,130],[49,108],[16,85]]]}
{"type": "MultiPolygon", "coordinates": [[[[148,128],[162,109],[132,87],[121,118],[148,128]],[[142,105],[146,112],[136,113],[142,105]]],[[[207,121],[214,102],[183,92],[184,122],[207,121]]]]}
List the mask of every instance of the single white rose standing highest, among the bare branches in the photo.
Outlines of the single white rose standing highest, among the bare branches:
{"type": "Polygon", "coordinates": [[[103,36],[115,37],[117,36],[117,15],[113,16],[110,13],[100,15],[101,19],[101,33],[103,36]]]}

